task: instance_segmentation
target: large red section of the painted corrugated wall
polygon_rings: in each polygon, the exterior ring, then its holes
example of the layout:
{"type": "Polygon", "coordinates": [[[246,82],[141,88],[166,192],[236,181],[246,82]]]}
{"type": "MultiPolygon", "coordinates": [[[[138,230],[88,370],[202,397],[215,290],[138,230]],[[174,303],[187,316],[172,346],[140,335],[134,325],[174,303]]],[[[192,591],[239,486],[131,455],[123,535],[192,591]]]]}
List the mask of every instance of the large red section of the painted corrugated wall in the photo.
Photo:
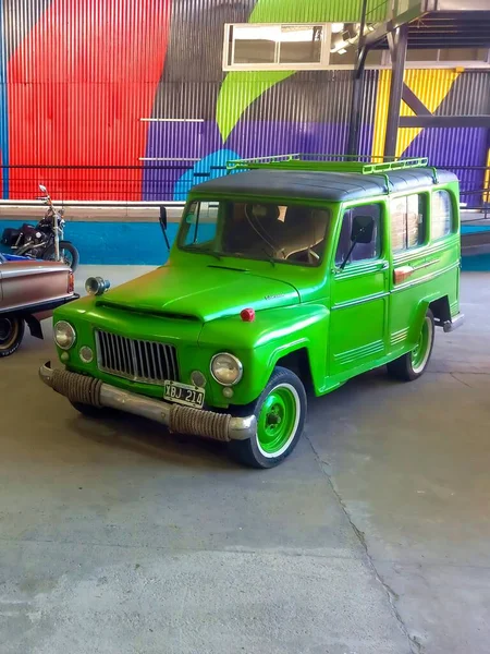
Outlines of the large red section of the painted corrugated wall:
{"type": "MultiPolygon", "coordinates": [[[[171,0],[53,0],[8,62],[11,166],[138,166],[171,0]]],[[[10,197],[134,199],[140,170],[11,169],[10,197]],[[87,180],[89,183],[87,184],[87,180]]]]}

